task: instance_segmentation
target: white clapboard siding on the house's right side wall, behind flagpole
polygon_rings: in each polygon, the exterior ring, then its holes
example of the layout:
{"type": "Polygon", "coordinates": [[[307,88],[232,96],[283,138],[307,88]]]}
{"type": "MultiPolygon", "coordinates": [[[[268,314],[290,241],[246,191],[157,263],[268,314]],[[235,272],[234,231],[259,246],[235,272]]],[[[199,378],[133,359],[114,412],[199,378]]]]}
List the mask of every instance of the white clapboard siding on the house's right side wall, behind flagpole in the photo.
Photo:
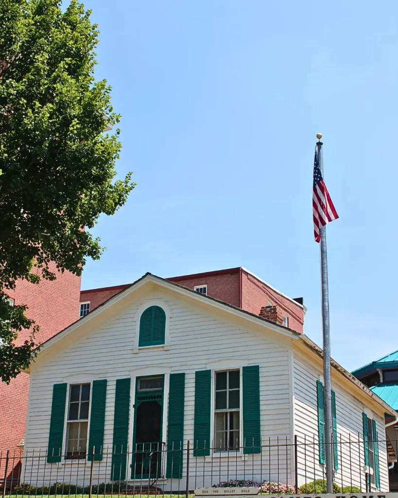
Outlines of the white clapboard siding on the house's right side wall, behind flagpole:
{"type": "MultiPolygon", "coordinates": [[[[311,447],[307,447],[304,455],[303,447],[298,447],[298,476],[299,483],[307,482],[315,478],[321,479],[324,475],[324,467],[319,464],[318,457],[318,418],[316,399],[316,380],[322,371],[310,365],[298,352],[294,353],[294,410],[295,410],[295,433],[298,442],[315,442],[315,453],[311,447]],[[304,470],[306,469],[306,471],[304,470]]],[[[332,389],[336,393],[336,419],[338,435],[339,469],[335,472],[335,482],[341,486],[361,487],[364,489],[364,476],[360,472],[364,465],[363,444],[349,444],[349,441],[363,441],[362,435],[362,412],[364,404],[352,394],[343,389],[335,381],[332,389]],[[351,451],[350,451],[351,448],[351,451]],[[351,462],[351,466],[350,466],[351,462]]],[[[379,439],[385,439],[384,418],[374,414],[377,424],[379,439]]],[[[380,483],[381,490],[389,490],[389,479],[387,469],[387,452],[385,446],[379,446],[380,460],[380,483]]]]}

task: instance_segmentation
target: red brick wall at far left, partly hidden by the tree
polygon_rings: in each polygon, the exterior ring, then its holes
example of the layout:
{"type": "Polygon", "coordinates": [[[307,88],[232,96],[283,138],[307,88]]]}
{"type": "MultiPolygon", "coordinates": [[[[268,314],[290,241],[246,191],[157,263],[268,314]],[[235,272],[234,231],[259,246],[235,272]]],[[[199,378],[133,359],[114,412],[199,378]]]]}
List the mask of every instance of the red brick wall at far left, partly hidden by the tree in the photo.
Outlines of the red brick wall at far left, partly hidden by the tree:
{"type": "MultiPolygon", "coordinates": [[[[56,271],[55,265],[51,268],[56,271]]],[[[17,282],[9,296],[15,304],[26,304],[28,316],[40,326],[36,342],[44,342],[79,318],[81,278],[69,272],[58,273],[55,281],[41,280],[33,285],[17,282]]],[[[18,335],[18,343],[28,331],[18,335]]],[[[16,445],[25,433],[29,394],[29,375],[20,373],[9,385],[0,382],[0,451],[10,450],[19,455],[16,445]]]]}

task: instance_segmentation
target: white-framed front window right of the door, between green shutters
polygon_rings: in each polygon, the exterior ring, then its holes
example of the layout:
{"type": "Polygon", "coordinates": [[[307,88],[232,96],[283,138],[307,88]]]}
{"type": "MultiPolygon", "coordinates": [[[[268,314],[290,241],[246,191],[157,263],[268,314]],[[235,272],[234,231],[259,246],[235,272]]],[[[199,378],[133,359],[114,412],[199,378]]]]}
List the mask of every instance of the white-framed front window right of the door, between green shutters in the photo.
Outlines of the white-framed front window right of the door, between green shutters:
{"type": "Polygon", "coordinates": [[[237,450],[240,434],[240,371],[215,372],[214,447],[237,450]]]}

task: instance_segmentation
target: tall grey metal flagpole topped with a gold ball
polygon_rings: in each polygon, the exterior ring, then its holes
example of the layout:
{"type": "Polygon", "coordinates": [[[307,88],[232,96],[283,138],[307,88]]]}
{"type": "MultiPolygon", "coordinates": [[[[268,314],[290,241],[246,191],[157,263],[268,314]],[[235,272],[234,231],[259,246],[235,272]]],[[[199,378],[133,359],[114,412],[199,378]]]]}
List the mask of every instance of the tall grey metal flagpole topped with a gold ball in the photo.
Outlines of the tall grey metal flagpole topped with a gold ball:
{"type": "MultiPolygon", "coordinates": [[[[318,164],[323,177],[323,155],[320,141],[316,135],[318,164]]],[[[320,273],[322,287],[322,332],[323,332],[323,382],[324,382],[324,419],[325,419],[325,457],[326,493],[333,493],[333,425],[332,425],[332,381],[330,372],[330,325],[329,325],[329,284],[327,277],[326,225],[320,228],[320,273]]]]}

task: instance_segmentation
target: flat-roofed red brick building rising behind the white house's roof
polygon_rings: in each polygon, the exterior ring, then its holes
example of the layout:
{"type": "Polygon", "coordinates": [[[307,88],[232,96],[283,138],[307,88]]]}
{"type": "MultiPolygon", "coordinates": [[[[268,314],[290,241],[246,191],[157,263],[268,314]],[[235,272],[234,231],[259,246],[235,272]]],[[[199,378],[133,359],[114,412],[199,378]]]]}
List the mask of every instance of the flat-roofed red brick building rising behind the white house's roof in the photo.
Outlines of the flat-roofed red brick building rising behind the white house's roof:
{"type": "MultiPolygon", "coordinates": [[[[175,282],[201,294],[219,299],[236,308],[270,319],[302,334],[305,307],[301,297],[292,299],[241,266],[170,277],[175,282]]],[[[80,316],[85,316],[100,304],[131,284],[82,290],[80,316]]]]}

